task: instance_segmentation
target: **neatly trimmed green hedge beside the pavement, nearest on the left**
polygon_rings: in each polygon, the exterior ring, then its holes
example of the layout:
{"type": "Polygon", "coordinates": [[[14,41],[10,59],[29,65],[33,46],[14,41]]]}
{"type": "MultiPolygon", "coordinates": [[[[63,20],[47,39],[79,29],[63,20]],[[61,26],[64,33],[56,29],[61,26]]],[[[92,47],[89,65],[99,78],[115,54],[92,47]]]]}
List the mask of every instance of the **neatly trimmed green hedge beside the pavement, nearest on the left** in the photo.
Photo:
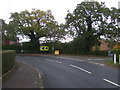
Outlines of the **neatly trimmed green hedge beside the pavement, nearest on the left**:
{"type": "Polygon", "coordinates": [[[6,50],[2,52],[2,75],[11,70],[15,64],[15,51],[6,50]]]}

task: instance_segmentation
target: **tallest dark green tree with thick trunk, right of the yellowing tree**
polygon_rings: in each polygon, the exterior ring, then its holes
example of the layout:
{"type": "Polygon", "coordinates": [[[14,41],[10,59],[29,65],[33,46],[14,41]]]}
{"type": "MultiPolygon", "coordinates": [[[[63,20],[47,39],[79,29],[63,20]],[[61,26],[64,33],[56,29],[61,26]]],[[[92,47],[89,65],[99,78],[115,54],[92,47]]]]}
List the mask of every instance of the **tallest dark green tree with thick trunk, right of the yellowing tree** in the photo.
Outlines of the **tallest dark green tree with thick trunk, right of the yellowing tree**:
{"type": "Polygon", "coordinates": [[[89,52],[92,46],[99,44],[98,39],[105,35],[109,14],[110,9],[105,3],[88,1],[78,4],[73,13],[68,12],[66,26],[76,38],[81,38],[78,40],[84,43],[85,52],[89,52]]]}

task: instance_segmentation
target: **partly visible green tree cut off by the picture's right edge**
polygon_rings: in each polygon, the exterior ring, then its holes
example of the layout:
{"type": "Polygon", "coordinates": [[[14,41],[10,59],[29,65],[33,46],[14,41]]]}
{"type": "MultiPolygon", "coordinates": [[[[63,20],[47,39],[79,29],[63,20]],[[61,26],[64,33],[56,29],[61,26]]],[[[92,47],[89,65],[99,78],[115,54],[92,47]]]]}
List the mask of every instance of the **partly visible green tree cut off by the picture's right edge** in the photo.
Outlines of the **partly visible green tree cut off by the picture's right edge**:
{"type": "Polygon", "coordinates": [[[120,9],[112,7],[108,14],[109,21],[107,22],[105,38],[109,42],[109,46],[120,43],[120,9]]]}

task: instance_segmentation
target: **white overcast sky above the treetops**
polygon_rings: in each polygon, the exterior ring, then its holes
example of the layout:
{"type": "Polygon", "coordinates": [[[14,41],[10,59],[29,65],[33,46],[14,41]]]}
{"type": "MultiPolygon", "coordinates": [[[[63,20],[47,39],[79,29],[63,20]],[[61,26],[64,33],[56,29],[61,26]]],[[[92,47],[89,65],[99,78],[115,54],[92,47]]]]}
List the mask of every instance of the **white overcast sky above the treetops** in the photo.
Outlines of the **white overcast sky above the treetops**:
{"type": "MultiPolygon", "coordinates": [[[[59,23],[65,22],[67,11],[72,12],[76,5],[83,0],[1,0],[0,1],[0,18],[6,20],[8,23],[10,13],[20,12],[22,10],[31,10],[32,8],[46,11],[52,11],[53,16],[59,23]]],[[[97,0],[104,1],[107,7],[118,8],[120,0],[97,0]]]]}

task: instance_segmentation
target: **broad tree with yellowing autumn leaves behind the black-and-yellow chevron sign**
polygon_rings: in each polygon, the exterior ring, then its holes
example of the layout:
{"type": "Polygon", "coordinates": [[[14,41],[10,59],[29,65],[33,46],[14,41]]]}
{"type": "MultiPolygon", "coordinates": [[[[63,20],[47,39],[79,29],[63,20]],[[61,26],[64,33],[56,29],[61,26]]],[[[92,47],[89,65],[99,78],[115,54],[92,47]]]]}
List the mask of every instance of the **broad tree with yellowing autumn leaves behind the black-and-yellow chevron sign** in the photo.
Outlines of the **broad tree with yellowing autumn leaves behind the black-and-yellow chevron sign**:
{"type": "Polygon", "coordinates": [[[36,43],[35,47],[39,48],[39,39],[42,37],[53,38],[59,37],[58,23],[50,10],[41,11],[39,9],[32,9],[15,12],[11,14],[10,25],[14,25],[14,31],[19,35],[26,35],[30,38],[31,43],[36,43]]]}

